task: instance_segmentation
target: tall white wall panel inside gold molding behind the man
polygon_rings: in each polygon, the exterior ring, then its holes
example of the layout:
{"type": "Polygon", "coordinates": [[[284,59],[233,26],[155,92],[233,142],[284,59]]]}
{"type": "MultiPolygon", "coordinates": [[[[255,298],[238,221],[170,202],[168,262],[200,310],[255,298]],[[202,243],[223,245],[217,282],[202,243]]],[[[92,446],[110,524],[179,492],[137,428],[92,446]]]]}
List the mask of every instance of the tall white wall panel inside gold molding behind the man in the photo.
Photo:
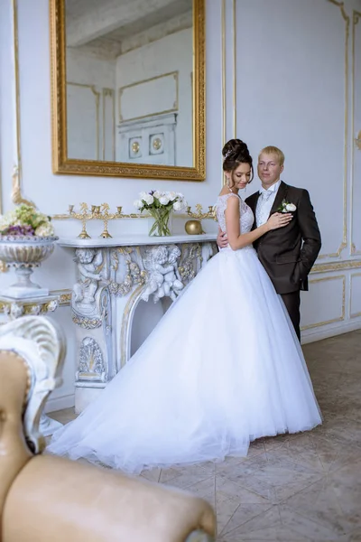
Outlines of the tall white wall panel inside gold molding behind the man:
{"type": "Polygon", "coordinates": [[[310,191],[324,232],[321,254],[337,252],[347,182],[345,21],[338,6],[326,1],[237,5],[243,29],[236,43],[237,134],[254,155],[265,145],[282,148],[284,180],[310,191]],[[328,212],[322,212],[330,188],[333,197],[328,198],[328,212]]]}

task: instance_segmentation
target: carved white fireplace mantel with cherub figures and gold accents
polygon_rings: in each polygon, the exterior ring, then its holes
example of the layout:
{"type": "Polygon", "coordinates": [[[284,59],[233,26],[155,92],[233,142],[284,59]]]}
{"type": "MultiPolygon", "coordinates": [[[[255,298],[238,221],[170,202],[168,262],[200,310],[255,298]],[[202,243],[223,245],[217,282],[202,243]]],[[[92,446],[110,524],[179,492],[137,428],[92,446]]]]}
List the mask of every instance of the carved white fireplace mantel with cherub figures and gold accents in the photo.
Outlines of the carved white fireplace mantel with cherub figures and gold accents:
{"type": "Polygon", "coordinates": [[[140,301],[174,301],[217,252],[216,234],[62,238],[75,250],[71,311],[77,333],[75,408],[88,405],[131,356],[140,301]]]}

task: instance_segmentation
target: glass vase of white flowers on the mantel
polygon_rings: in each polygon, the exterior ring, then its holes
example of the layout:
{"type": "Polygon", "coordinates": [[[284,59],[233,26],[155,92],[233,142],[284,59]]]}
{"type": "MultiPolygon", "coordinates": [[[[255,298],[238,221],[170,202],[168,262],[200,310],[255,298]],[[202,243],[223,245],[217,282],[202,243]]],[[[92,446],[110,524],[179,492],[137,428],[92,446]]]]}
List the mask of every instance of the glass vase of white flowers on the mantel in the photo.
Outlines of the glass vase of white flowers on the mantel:
{"type": "Polygon", "coordinates": [[[143,212],[147,210],[153,217],[153,226],[149,231],[152,236],[168,236],[171,235],[169,220],[172,211],[180,211],[187,208],[183,194],[180,192],[141,192],[140,199],[134,201],[134,207],[143,212]]]}

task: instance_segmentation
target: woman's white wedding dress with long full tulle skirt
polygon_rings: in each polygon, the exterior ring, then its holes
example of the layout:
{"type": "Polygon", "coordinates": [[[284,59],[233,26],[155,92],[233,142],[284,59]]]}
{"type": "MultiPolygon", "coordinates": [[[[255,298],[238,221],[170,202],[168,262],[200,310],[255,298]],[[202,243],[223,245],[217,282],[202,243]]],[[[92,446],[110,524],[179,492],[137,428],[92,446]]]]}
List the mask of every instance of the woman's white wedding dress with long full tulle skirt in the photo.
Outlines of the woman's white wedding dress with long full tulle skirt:
{"type": "MultiPolygon", "coordinates": [[[[226,229],[227,194],[218,198],[226,229]]],[[[252,210],[239,199],[241,231],[252,210]]],[[[126,472],[221,461],[321,423],[292,323],[252,247],[224,248],[49,452],[126,472]]]]}

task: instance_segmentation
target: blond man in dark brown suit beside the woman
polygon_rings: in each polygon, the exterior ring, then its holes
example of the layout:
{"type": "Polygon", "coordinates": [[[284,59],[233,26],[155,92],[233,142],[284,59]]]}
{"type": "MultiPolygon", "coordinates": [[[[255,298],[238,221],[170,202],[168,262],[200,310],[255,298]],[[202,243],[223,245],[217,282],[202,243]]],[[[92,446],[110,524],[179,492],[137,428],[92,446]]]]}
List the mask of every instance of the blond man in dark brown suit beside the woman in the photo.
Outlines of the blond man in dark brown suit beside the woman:
{"type": "MultiPolygon", "coordinates": [[[[262,182],[258,192],[245,203],[253,210],[253,229],[262,226],[274,212],[292,211],[293,220],[284,228],[272,229],[255,241],[260,262],[273,282],[277,294],[290,314],[299,339],[300,291],[308,290],[308,275],[321,248],[321,236],[307,190],[289,186],[280,179],[284,154],[267,146],[258,157],[257,172],[262,182]]],[[[227,247],[226,233],[218,233],[218,247],[227,247]]]]}

